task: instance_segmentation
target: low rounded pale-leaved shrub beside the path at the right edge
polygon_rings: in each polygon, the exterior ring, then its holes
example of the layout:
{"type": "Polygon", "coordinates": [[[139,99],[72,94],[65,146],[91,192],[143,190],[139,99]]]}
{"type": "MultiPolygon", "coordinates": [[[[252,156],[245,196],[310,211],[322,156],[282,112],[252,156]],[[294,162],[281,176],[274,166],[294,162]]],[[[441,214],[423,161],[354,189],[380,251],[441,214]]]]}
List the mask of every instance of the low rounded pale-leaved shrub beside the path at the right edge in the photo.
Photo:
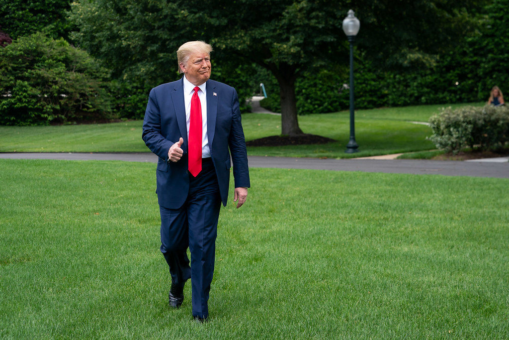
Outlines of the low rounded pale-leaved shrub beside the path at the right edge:
{"type": "Polygon", "coordinates": [[[495,149],[509,143],[509,108],[464,107],[444,109],[430,118],[433,135],[429,139],[437,148],[457,153],[470,147],[495,149]]]}

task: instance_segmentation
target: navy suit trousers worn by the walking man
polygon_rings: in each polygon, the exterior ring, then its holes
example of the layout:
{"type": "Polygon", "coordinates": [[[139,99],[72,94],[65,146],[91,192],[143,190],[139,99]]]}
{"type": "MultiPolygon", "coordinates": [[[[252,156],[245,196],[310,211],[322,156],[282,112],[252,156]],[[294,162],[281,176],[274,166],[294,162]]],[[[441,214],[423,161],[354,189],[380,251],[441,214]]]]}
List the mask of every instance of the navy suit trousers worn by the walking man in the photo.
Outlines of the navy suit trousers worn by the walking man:
{"type": "Polygon", "coordinates": [[[159,210],[161,252],[172,284],[183,286],[191,278],[192,315],[207,318],[221,197],[211,159],[203,159],[202,163],[196,177],[189,174],[189,194],[184,204],[178,209],[159,206],[159,210]]]}

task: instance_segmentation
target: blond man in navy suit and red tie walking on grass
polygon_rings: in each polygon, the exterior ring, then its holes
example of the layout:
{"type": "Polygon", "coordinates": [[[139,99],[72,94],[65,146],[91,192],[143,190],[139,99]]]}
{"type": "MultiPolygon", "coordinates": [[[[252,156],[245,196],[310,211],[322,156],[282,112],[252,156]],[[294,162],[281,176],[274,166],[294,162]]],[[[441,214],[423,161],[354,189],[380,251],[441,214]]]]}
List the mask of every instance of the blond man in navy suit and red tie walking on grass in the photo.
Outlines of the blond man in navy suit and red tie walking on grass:
{"type": "Polygon", "coordinates": [[[228,199],[231,160],[237,208],[250,186],[237,92],[209,80],[211,51],[203,41],[180,46],[184,76],[150,91],[143,122],[143,140],[159,156],[156,192],[161,252],[172,277],[169,305],[180,307],[190,278],[192,315],[200,322],[209,316],[217,220],[228,199]]]}

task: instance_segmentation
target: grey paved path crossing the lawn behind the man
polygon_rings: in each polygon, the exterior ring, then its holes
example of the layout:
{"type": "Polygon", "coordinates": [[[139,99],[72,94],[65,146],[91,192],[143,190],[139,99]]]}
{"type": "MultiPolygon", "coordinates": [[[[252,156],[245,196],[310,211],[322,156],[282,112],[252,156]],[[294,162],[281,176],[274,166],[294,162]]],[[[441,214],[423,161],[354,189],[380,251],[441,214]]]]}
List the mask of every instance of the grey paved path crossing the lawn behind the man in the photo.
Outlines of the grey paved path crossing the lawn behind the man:
{"type": "MultiPolygon", "coordinates": [[[[139,153],[0,153],[9,159],[101,160],[129,162],[157,162],[149,152],[139,153]]],[[[509,162],[463,162],[428,160],[333,160],[249,156],[251,168],[318,169],[337,171],[364,171],[385,173],[440,174],[447,176],[474,176],[509,178],[509,162]]]]}

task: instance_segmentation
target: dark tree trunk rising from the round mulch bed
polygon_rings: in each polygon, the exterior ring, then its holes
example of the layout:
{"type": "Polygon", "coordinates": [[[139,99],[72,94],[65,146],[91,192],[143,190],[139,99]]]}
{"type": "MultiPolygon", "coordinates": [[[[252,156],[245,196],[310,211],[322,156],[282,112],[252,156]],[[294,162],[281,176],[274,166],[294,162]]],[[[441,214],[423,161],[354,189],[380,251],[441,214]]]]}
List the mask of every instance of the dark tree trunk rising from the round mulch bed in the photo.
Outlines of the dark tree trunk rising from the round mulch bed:
{"type": "Polygon", "coordinates": [[[295,98],[295,81],[279,80],[281,99],[281,134],[286,136],[302,135],[297,120],[297,100],[295,98]]]}

